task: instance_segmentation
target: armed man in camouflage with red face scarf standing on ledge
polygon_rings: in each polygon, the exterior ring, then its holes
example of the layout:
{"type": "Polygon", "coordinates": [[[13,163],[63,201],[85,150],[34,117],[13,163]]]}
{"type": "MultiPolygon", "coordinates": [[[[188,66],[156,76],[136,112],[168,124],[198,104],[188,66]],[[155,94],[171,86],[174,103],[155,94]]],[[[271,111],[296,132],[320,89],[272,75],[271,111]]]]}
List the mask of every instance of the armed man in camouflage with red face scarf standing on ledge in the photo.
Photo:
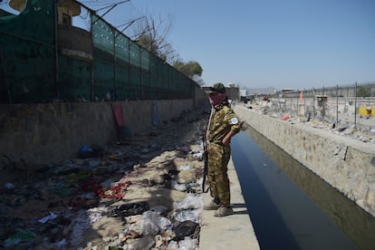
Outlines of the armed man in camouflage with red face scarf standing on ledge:
{"type": "Polygon", "coordinates": [[[211,103],[211,114],[207,127],[207,152],[210,196],[212,201],[204,207],[205,210],[216,210],[215,216],[233,214],[230,207],[230,188],[227,175],[227,165],[231,156],[230,139],[241,129],[241,122],[232,110],[226,87],[216,83],[209,90],[208,98],[211,103]]]}

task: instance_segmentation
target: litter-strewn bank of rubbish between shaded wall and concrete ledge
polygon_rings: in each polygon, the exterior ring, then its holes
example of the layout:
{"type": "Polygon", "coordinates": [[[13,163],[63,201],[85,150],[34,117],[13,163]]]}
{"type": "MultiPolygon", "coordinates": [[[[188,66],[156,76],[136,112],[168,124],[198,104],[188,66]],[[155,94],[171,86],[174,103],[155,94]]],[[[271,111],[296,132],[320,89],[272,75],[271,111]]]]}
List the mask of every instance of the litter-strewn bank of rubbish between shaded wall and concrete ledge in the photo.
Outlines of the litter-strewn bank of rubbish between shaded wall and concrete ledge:
{"type": "Polygon", "coordinates": [[[196,249],[207,111],[187,111],[0,187],[9,249],[196,249]]]}

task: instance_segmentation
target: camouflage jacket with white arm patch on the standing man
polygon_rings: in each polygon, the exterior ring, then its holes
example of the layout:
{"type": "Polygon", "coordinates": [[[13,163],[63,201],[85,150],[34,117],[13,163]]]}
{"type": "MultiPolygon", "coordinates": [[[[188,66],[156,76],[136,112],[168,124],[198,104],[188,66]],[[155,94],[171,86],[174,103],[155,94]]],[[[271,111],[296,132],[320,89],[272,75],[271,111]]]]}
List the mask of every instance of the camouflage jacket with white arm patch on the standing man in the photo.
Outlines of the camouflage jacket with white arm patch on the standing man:
{"type": "Polygon", "coordinates": [[[221,144],[230,130],[237,133],[241,129],[241,123],[230,106],[219,105],[212,112],[207,133],[209,142],[221,144]]]}

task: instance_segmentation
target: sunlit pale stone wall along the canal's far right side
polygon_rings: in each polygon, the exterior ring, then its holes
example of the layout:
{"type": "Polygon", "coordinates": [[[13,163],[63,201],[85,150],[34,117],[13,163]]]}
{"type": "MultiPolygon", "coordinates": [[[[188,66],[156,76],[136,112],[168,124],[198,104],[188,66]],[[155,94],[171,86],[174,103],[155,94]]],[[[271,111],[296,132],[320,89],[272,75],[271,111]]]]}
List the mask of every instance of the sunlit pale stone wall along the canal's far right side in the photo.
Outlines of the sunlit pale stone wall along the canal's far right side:
{"type": "Polygon", "coordinates": [[[236,114],[375,216],[375,145],[240,107],[236,114]]]}

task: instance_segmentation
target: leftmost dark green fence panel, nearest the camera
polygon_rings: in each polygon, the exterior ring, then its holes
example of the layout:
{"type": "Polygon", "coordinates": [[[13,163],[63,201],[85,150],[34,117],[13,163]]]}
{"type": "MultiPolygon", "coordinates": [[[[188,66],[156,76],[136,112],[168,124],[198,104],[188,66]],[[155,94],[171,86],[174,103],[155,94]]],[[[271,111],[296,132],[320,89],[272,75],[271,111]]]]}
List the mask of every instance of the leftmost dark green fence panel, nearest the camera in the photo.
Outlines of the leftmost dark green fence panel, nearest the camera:
{"type": "Polygon", "coordinates": [[[54,1],[29,0],[18,15],[0,17],[0,102],[56,98],[54,1]]]}

